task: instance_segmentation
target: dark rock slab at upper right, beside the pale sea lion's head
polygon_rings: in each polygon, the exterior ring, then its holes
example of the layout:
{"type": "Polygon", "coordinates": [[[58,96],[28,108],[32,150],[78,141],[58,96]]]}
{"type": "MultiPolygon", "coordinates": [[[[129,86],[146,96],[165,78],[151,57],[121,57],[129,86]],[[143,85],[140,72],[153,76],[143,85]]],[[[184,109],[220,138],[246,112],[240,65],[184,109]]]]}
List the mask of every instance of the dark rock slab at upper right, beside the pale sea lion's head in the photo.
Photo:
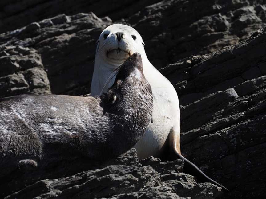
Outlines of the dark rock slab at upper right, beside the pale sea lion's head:
{"type": "Polygon", "coordinates": [[[265,1],[161,1],[128,20],[144,38],[157,69],[191,55],[214,52],[266,25],[265,1]],[[147,31],[148,30],[148,31],[147,31]]]}

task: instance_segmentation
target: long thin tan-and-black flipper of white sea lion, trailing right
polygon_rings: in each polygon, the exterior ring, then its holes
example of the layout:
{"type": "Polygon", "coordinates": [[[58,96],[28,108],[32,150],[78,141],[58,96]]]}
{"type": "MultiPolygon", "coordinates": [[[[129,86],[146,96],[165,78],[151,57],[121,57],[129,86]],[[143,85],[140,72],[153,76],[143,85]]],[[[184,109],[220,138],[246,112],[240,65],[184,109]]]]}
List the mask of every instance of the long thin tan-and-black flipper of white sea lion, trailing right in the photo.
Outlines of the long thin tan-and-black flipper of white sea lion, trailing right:
{"type": "MultiPolygon", "coordinates": [[[[184,158],[181,155],[180,151],[180,128],[177,130],[173,128],[169,133],[169,143],[170,143],[170,151],[172,152],[171,155],[173,155],[174,159],[183,159],[185,161],[184,164],[184,172],[187,174],[192,174],[199,178],[201,181],[207,181],[214,185],[220,186],[223,188],[223,190],[228,191],[223,185],[220,185],[218,182],[212,180],[207,175],[205,175],[195,164],[190,162],[187,158],[184,158]],[[178,131],[179,130],[179,131],[178,131]]],[[[173,157],[171,157],[172,159],[173,157]]]]}

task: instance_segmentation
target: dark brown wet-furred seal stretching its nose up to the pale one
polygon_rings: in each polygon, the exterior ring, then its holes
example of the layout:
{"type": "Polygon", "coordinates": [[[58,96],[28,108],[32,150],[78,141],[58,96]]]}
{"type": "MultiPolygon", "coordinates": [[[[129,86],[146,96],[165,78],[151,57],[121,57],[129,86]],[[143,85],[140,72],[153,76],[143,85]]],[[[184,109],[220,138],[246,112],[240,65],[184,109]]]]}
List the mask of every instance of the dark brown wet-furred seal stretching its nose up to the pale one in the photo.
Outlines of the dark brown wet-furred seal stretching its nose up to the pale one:
{"type": "Polygon", "coordinates": [[[100,97],[23,95],[1,99],[0,170],[46,164],[50,157],[58,155],[60,159],[60,151],[107,159],[133,147],[152,119],[151,86],[143,75],[139,53],[115,73],[115,83],[100,97]]]}

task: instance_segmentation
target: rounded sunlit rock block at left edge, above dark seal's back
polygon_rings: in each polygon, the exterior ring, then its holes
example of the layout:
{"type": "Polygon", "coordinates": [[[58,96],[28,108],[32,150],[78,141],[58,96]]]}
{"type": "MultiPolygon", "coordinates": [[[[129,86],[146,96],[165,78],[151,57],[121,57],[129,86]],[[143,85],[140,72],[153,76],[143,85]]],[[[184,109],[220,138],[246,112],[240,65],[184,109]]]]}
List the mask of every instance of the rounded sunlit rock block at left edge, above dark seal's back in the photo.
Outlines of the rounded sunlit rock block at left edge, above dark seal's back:
{"type": "Polygon", "coordinates": [[[19,94],[51,94],[41,56],[35,49],[4,46],[0,55],[2,97],[19,94]]]}

